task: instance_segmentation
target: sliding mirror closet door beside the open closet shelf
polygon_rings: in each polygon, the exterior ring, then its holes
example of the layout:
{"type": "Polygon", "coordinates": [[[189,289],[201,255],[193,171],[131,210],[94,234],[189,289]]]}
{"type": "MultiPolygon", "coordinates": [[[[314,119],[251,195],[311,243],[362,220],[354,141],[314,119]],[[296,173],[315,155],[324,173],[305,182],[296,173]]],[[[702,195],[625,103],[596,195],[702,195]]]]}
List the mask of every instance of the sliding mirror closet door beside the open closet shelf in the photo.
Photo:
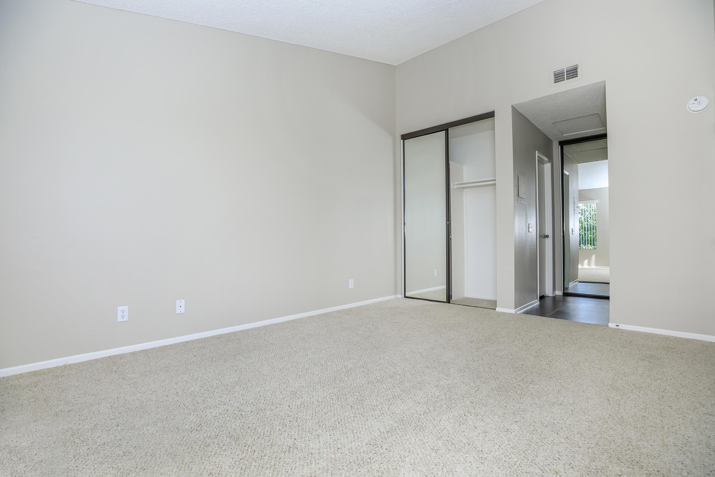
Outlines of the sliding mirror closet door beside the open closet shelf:
{"type": "Polygon", "coordinates": [[[446,132],[405,139],[405,296],[447,301],[446,132]]]}

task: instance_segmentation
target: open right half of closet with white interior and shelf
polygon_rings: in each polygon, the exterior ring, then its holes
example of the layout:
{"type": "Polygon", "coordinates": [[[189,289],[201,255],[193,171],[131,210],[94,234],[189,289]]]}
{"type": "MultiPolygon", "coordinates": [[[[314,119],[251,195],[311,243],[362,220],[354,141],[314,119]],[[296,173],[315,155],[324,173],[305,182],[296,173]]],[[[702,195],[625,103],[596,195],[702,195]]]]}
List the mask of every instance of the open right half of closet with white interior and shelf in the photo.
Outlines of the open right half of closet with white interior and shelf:
{"type": "Polygon", "coordinates": [[[496,308],[494,119],[450,128],[452,303],[496,308]]]}

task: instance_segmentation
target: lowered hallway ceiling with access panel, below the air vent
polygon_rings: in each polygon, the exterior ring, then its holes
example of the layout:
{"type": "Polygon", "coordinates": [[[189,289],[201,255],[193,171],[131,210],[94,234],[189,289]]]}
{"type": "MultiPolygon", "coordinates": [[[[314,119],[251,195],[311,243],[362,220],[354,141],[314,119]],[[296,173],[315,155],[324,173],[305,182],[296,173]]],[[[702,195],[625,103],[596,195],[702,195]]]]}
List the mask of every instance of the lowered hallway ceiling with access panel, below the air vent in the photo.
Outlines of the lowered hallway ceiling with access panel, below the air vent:
{"type": "Polygon", "coordinates": [[[608,126],[606,82],[566,89],[514,107],[552,141],[603,134],[608,126]]]}

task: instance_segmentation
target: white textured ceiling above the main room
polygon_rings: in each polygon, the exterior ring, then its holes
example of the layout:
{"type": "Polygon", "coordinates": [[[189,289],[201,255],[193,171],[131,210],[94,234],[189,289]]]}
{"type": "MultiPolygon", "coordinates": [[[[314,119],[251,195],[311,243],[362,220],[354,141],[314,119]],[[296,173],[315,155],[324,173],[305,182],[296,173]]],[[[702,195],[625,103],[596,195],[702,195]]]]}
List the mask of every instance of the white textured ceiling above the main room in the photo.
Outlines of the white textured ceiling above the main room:
{"type": "Polygon", "coordinates": [[[543,0],[79,0],[400,64],[543,0]]]}

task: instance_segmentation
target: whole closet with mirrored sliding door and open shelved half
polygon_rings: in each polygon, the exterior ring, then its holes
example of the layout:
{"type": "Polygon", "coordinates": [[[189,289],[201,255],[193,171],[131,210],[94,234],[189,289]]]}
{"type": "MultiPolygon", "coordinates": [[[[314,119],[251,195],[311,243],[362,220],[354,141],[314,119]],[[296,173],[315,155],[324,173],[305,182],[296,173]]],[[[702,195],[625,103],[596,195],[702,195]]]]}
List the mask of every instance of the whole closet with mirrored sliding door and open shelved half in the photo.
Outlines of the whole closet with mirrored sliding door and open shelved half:
{"type": "Polygon", "coordinates": [[[404,296],[496,308],[493,112],[403,134],[404,296]]]}

